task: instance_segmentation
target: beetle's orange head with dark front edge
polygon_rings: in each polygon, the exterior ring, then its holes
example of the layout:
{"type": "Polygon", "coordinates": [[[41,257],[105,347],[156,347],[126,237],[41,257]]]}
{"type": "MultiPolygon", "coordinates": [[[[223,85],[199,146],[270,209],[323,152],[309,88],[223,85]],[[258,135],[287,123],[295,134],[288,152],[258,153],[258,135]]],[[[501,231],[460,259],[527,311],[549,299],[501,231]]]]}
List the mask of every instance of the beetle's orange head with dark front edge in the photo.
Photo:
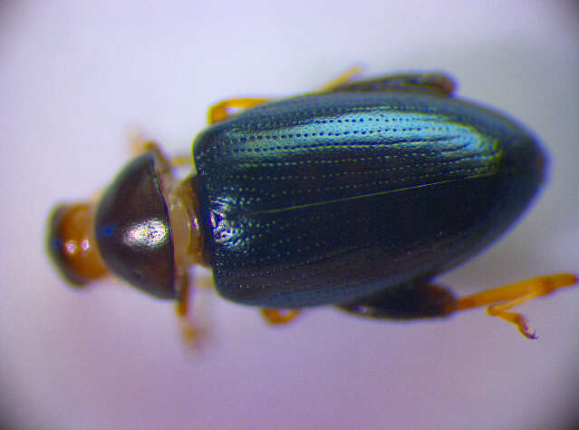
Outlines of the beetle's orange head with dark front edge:
{"type": "Polygon", "coordinates": [[[88,202],[60,205],[48,227],[48,253],[74,287],[83,287],[108,273],[93,234],[94,207],[88,202]]]}

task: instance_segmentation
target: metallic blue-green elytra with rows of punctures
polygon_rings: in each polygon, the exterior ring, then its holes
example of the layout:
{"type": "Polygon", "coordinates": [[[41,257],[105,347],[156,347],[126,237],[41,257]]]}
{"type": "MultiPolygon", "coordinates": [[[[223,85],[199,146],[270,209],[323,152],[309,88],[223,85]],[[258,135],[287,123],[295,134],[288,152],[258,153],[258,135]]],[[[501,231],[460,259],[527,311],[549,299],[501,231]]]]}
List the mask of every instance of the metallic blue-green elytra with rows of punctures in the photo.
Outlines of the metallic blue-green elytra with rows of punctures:
{"type": "Polygon", "coordinates": [[[217,290],[265,308],[427,281],[506,230],[545,165],[502,114],[404,87],[265,103],[208,127],[193,154],[217,290]]]}

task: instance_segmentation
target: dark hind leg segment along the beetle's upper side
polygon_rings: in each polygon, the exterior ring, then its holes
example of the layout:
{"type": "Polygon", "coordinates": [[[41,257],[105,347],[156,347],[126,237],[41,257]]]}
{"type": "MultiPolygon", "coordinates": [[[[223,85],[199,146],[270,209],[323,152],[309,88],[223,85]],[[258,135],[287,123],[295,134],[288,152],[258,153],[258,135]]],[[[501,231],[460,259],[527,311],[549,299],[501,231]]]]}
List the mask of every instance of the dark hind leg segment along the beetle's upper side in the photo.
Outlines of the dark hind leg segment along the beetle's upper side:
{"type": "Polygon", "coordinates": [[[454,87],[454,82],[446,74],[400,73],[340,83],[333,87],[324,87],[321,93],[375,93],[399,89],[427,90],[449,95],[453,93],[454,87]]]}

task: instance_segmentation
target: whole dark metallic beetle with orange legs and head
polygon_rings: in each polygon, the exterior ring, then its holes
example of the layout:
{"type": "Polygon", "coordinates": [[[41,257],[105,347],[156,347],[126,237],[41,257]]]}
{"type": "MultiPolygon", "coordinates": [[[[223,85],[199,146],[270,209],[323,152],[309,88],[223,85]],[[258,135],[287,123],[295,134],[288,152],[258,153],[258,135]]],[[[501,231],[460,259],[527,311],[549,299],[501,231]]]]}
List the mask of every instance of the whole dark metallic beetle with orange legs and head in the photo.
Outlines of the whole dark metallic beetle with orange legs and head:
{"type": "Polygon", "coordinates": [[[112,273],[177,299],[181,315],[198,264],[221,296],[263,308],[272,323],[322,305],[393,319],[488,306],[534,338],[507,309],[573,285],[573,274],[467,298],[431,279],[533,200],[545,177],[536,139],[454,97],[445,74],[353,74],[315,93],[213,106],[182,180],[159,146],[143,145],[100,200],[53,210],[56,267],[76,286],[112,273]]]}

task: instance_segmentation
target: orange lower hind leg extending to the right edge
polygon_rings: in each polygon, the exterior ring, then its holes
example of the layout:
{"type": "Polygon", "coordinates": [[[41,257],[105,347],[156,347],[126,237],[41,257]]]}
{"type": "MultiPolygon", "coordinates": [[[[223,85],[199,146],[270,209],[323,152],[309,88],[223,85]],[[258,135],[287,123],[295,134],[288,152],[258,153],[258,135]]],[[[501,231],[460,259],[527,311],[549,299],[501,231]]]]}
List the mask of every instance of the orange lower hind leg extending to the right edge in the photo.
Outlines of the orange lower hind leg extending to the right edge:
{"type": "Polygon", "coordinates": [[[529,328],[525,316],[507,309],[531,298],[551,294],[558,288],[572,286],[577,281],[579,279],[570,273],[526,279],[503,287],[488,289],[465,298],[458,298],[449,305],[448,311],[451,313],[458,310],[488,306],[487,312],[489,315],[503,318],[507,322],[515,324],[523,336],[535,339],[535,332],[529,328]]]}

